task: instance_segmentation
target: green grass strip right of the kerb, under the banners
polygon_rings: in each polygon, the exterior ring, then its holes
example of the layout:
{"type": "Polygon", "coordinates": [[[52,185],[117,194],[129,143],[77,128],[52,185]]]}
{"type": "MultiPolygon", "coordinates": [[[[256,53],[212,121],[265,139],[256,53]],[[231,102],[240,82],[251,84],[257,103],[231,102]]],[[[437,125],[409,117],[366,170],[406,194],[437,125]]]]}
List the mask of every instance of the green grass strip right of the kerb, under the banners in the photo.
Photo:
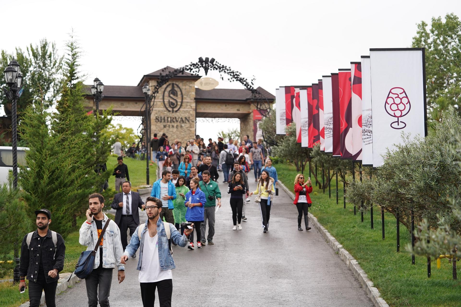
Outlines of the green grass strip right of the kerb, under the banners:
{"type": "MultiPolygon", "coordinates": [[[[293,191],[296,168],[284,164],[276,164],[275,167],[278,179],[293,191]]],[[[309,171],[304,173],[308,176],[309,171]]],[[[318,174],[321,181],[320,168],[318,174]]],[[[416,256],[415,265],[412,265],[411,255],[404,250],[410,242],[410,234],[403,225],[400,227],[401,251],[396,252],[396,219],[392,214],[384,214],[385,239],[382,240],[379,207],[373,210],[374,229],[371,229],[370,212],[364,214],[362,223],[360,212],[354,215],[352,204],[346,203],[346,209],[343,209],[341,182],[338,184],[339,204],[336,204],[335,178],[331,180],[331,199],[328,189],[323,194],[312,179],[313,205],[310,212],[354,256],[390,306],[461,306],[461,281],[452,280],[452,266],[446,259],[437,269],[436,260],[432,258],[431,278],[427,278],[426,257],[416,256]]]]}

